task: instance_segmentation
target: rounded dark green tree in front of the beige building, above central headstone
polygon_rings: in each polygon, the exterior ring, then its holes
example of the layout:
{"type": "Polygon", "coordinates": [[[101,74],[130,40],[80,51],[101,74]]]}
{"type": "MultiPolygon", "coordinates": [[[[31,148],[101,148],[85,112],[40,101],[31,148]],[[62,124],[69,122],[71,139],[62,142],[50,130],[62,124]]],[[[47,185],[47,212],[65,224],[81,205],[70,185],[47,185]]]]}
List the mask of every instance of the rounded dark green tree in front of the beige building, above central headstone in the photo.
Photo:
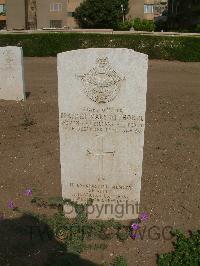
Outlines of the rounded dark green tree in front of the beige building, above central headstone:
{"type": "Polygon", "coordinates": [[[74,17],[81,28],[116,29],[127,12],[128,0],[85,0],[75,10],[74,17]]]}

